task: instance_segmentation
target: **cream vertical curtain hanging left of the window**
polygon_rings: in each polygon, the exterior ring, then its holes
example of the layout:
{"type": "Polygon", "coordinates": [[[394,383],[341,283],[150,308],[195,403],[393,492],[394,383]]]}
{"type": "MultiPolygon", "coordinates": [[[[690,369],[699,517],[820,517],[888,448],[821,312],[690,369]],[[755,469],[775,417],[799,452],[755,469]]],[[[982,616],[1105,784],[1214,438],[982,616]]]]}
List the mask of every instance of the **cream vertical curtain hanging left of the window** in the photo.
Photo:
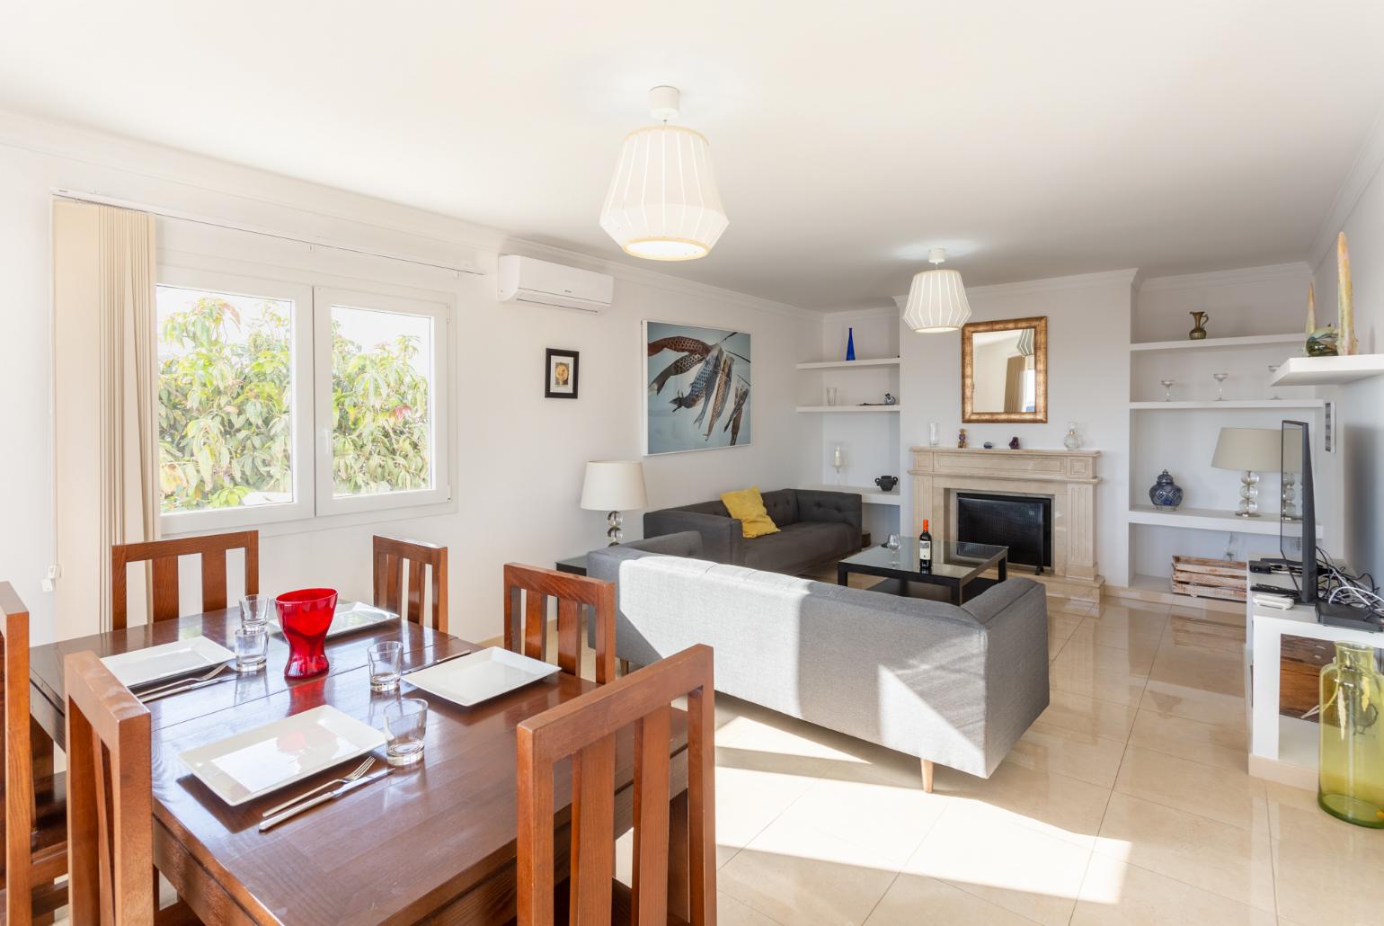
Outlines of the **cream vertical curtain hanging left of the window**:
{"type": "Polygon", "coordinates": [[[57,199],[53,230],[61,639],[109,628],[111,544],[158,538],[158,354],[154,216],[57,199]]]}

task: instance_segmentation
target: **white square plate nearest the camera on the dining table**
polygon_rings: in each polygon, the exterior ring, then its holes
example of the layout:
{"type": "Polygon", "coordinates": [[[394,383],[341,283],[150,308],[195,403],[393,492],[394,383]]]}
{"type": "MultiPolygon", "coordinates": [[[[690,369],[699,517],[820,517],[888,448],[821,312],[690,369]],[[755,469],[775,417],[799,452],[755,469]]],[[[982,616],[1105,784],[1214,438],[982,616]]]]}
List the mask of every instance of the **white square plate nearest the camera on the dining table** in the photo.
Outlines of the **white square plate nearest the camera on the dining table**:
{"type": "Polygon", "coordinates": [[[179,753],[231,807],[385,745],[385,734],[331,705],[179,753]]]}

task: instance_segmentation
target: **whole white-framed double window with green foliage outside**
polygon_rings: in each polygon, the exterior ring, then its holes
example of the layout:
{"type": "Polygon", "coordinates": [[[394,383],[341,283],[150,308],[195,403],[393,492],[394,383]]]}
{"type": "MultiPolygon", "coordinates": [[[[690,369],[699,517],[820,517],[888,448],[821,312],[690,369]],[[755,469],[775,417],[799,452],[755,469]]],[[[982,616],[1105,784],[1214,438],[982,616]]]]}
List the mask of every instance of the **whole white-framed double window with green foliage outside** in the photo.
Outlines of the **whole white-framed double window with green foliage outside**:
{"type": "Polygon", "coordinates": [[[180,269],[156,295],[166,532],[447,500],[444,303],[180,269]]]}

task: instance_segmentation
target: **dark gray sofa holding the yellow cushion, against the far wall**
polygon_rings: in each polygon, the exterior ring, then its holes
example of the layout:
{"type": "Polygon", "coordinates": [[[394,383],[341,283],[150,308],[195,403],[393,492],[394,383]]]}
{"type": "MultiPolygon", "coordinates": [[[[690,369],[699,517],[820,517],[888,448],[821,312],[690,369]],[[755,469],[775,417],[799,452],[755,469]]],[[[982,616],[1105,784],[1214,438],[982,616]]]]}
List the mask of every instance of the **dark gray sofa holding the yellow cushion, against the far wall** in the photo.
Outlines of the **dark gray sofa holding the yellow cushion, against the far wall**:
{"type": "Polygon", "coordinates": [[[740,520],[717,498],[645,514],[644,536],[695,530],[702,534],[703,559],[789,576],[859,551],[859,496],[815,489],[778,489],[763,496],[779,527],[776,534],[746,540],[740,520]]]}

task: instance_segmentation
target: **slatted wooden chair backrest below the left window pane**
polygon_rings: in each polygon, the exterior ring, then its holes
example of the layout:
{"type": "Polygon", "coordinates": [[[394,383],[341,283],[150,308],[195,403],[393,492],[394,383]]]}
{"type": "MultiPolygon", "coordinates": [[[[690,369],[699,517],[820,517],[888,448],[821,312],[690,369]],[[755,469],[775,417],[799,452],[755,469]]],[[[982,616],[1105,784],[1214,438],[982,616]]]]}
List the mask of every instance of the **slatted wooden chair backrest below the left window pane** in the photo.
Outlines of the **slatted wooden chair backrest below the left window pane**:
{"type": "Polygon", "coordinates": [[[111,627],[126,627],[126,566],[154,562],[154,620],[179,616],[177,561],[180,556],[202,558],[202,610],[226,608],[226,554],[245,551],[245,594],[259,594],[259,532],[237,530],[228,534],[148,540],[138,544],[111,544],[111,627]]]}

